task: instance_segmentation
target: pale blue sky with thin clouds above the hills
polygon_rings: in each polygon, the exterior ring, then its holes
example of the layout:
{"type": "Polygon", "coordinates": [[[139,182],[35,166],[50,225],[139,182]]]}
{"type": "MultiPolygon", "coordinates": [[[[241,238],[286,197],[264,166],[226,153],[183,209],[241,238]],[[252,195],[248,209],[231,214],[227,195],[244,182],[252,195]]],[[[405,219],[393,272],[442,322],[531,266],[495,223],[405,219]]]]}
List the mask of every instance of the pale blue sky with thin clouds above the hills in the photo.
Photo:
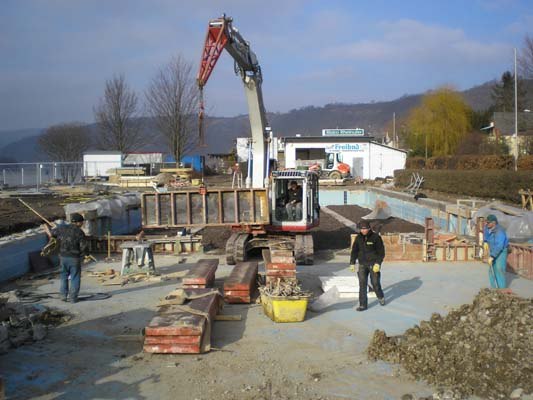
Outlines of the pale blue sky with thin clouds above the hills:
{"type": "MultiPolygon", "coordinates": [[[[0,0],[0,130],[93,122],[106,79],[142,95],[178,54],[196,71],[222,13],[251,42],[272,112],[499,79],[533,27],[531,0],[0,0]]],[[[226,53],[206,102],[247,113],[226,53]]]]}

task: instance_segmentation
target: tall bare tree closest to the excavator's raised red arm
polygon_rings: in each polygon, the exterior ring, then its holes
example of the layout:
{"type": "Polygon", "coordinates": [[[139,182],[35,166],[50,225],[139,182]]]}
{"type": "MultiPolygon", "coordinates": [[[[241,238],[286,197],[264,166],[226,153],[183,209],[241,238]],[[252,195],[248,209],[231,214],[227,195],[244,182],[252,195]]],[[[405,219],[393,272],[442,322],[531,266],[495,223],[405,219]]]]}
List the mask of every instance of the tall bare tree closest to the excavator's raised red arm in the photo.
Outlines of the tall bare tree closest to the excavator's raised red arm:
{"type": "Polygon", "coordinates": [[[181,56],[173,58],[159,70],[145,96],[149,114],[179,162],[198,143],[194,128],[199,90],[191,64],[181,56]]]}

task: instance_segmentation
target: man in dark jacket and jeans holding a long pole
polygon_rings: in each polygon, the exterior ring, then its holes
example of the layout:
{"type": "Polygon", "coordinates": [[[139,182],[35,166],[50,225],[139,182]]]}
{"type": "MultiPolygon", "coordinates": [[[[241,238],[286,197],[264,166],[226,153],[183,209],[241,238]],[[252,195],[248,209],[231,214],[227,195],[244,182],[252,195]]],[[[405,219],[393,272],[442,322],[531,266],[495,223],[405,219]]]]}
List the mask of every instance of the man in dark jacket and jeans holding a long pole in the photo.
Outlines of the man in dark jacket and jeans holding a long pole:
{"type": "Polygon", "coordinates": [[[81,230],[83,216],[74,213],[70,216],[70,220],[70,224],[58,225],[52,231],[50,231],[48,225],[43,227],[48,237],[54,237],[59,240],[59,261],[61,265],[59,292],[61,299],[76,303],[80,292],[81,263],[83,257],[88,255],[89,247],[85,233],[81,230]]]}

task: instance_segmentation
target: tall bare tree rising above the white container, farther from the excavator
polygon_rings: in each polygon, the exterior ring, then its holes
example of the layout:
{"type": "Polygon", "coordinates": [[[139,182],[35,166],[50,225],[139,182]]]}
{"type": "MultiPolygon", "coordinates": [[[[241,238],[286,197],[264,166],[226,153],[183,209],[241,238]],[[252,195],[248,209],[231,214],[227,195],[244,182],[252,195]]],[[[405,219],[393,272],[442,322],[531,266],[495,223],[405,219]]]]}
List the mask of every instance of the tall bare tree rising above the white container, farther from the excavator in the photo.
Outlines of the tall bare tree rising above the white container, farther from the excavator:
{"type": "Polygon", "coordinates": [[[95,107],[94,116],[102,148],[125,155],[144,144],[137,94],[128,86],[124,75],[106,81],[104,97],[95,107]]]}

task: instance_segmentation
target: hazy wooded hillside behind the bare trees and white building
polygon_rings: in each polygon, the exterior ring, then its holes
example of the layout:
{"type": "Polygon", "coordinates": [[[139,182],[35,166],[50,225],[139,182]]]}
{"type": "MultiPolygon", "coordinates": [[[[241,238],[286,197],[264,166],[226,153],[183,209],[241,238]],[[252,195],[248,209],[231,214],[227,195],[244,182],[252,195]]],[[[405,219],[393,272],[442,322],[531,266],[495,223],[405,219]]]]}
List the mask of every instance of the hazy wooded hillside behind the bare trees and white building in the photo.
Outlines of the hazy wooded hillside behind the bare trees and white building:
{"type": "MultiPolygon", "coordinates": [[[[491,90],[495,81],[463,91],[466,102],[474,110],[484,110],[491,105],[491,90]]],[[[533,109],[533,80],[526,81],[526,105],[533,109]]],[[[409,110],[416,107],[422,94],[406,95],[387,102],[363,104],[327,104],[324,107],[307,106],[287,113],[269,113],[268,121],[276,136],[319,136],[325,128],[363,128],[375,137],[382,137],[390,128],[392,115],[397,122],[405,118],[409,110]]],[[[146,136],[150,139],[139,151],[166,152],[165,141],[156,132],[150,118],[143,118],[146,136]]],[[[96,135],[96,126],[89,126],[91,136],[96,135]]],[[[39,154],[37,138],[41,130],[0,131],[0,162],[10,158],[18,162],[44,160],[39,154]]],[[[206,154],[228,153],[234,147],[237,137],[249,136],[250,125],[247,115],[236,117],[210,117],[206,120],[207,147],[201,149],[206,154]]],[[[200,150],[199,150],[200,151],[200,150]]]]}

